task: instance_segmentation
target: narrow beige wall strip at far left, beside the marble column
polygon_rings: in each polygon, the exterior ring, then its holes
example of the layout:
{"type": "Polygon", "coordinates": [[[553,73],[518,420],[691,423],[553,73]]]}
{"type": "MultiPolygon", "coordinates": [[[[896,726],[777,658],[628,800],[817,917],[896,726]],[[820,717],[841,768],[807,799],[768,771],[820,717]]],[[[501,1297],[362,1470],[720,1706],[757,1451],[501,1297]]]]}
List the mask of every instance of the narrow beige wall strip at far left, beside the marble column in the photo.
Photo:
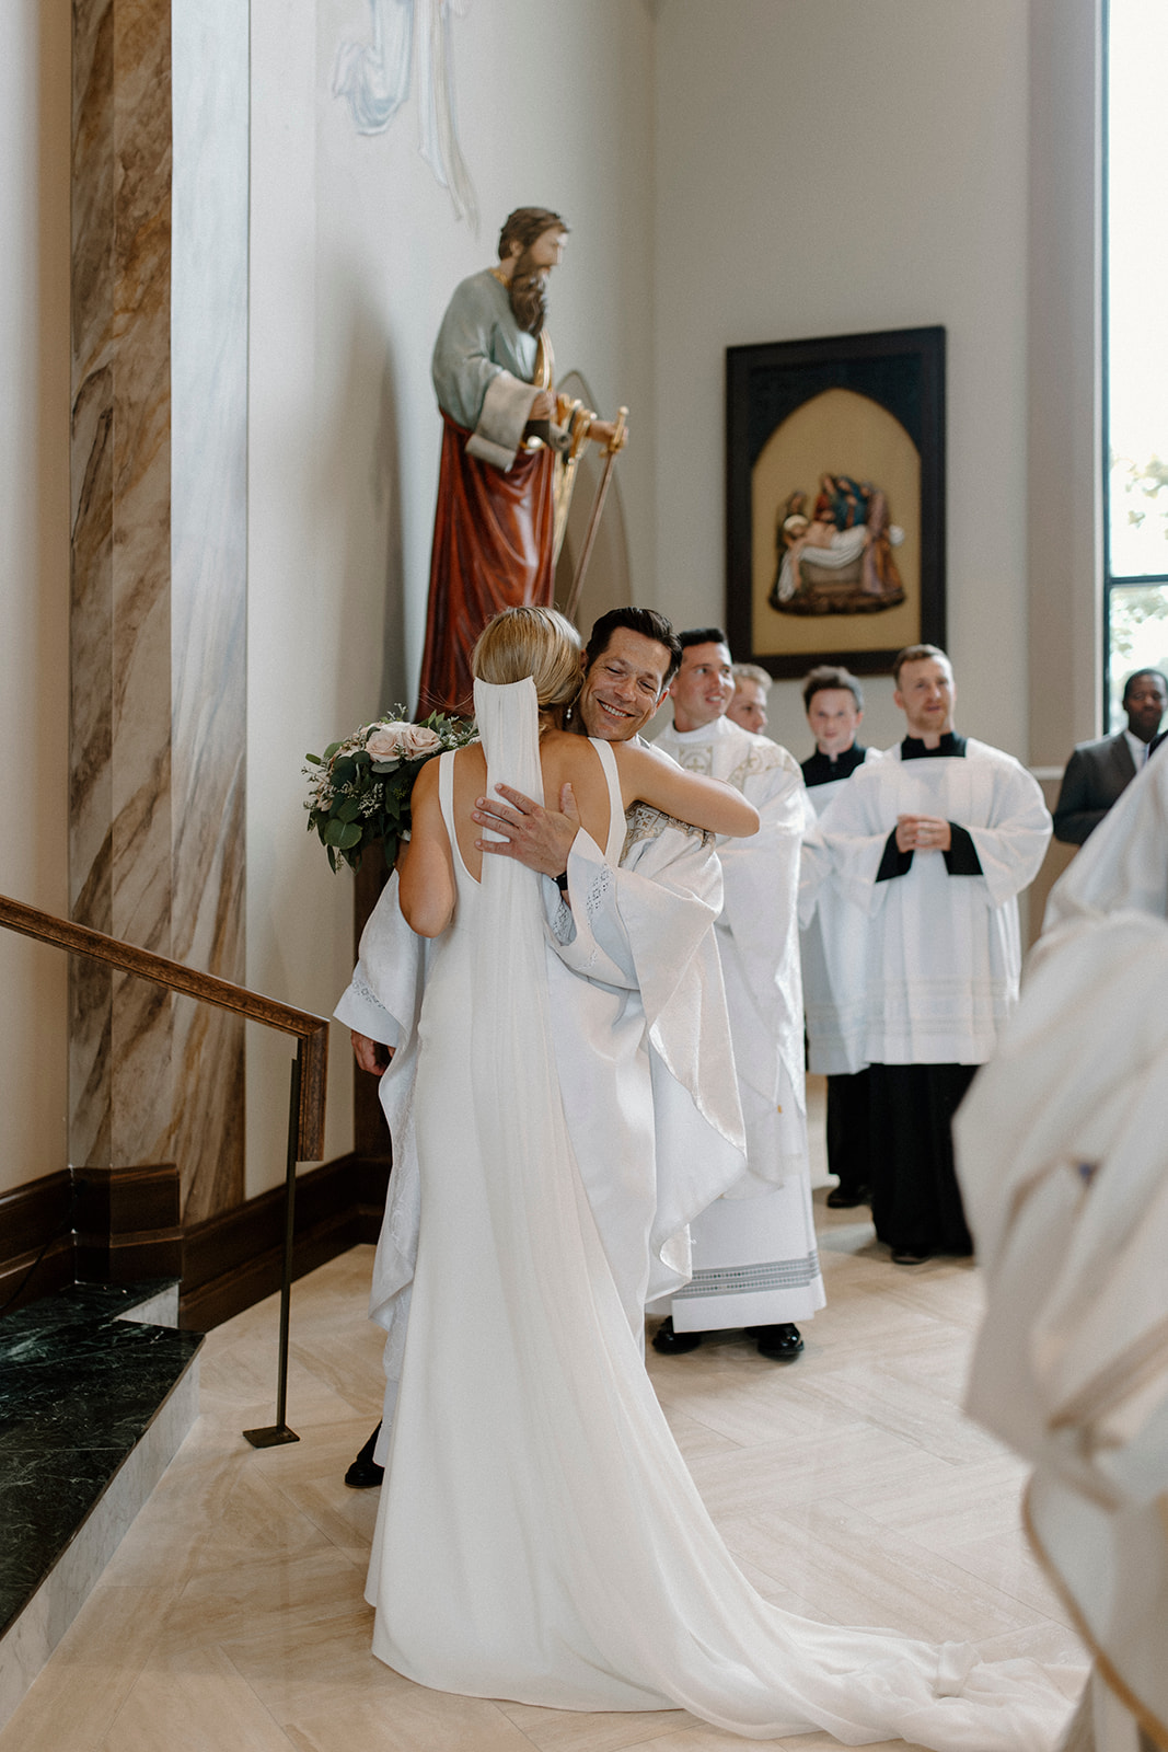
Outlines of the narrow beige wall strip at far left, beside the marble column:
{"type": "MultiPolygon", "coordinates": [[[[68,909],[68,0],[0,7],[0,892],[68,909]]],[[[0,1191],[65,1167],[67,962],[0,932],[0,1191]]]]}

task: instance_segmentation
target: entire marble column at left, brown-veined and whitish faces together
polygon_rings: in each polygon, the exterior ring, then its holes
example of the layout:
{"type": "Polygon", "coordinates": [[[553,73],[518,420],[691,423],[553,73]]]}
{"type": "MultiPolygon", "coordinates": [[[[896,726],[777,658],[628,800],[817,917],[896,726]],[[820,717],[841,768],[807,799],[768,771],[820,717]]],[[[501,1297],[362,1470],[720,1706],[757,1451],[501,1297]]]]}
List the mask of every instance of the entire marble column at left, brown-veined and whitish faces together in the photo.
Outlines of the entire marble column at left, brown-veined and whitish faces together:
{"type": "MultiPolygon", "coordinates": [[[[243,978],[247,7],[74,4],[70,904],[243,978]]],[[[77,964],[70,1156],[243,1197],[243,1028],[77,964]]]]}

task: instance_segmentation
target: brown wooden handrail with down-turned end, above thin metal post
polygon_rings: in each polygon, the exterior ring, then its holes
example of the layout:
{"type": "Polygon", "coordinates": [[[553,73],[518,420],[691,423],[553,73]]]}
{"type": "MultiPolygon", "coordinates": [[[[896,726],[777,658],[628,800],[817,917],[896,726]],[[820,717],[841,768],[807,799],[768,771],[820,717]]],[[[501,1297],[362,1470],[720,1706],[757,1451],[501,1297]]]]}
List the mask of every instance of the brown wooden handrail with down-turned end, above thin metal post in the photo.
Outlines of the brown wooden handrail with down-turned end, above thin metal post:
{"type": "Polygon", "coordinates": [[[70,955],[91,955],[98,962],[121,967],[123,972],[151,979],[166,986],[168,992],[180,992],[184,997],[198,999],[201,1004],[215,1004],[219,1009],[231,1009],[236,1016],[259,1021],[266,1028],[278,1028],[282,1034],[294,1034],[299,1041],[299,1102],[296,1123],[296,1160],[319,1162],[324,1156],[324,1086],[329,1060],[329,1025],[324,1016],[313,1016],[306,1009],[292,1009],[277,999],[249,992],[247,986],[231,985],[217,974],[200,972],[196,967],[184,967],[152,950],[138,950],[133,943],[121,943],[107,937],[102,930],[77,925],[72,918],[58,918],[54,913],[40,913],[23,901],[11,901],[0,895],[0,925],[19,930],[37,943],[51,943],[70,955]]]}

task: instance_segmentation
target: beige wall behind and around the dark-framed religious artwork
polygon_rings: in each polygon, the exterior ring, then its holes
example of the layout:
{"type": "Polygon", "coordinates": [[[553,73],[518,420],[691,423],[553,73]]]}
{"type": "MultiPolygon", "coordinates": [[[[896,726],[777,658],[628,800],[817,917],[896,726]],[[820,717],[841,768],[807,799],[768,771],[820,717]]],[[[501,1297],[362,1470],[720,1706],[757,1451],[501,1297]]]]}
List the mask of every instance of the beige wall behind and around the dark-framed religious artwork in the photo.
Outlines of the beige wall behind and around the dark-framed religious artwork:
{"type": "MultiPolygon", "coordinates": [[[[725,347],[940,322],[958,718],[1023,759],[1026,28],[1026,0],[665,0],[655,70],[657,606],[723,611],[725,347]]],[[[793,682],[772,734],[811,752],[793,682]]]]}

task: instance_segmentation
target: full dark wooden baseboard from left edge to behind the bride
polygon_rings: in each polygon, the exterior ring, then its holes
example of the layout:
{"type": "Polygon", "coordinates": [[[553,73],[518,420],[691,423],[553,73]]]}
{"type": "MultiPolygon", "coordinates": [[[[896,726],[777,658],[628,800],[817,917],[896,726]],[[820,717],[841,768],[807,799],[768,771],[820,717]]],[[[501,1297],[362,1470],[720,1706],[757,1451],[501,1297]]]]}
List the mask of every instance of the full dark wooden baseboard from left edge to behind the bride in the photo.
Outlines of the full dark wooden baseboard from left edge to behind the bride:
{"type": "MultiPolygon", "coordinates": [[[[296,1181],[294,1275],[315,1270],[382,1226],[389,1160],[338,1156],[296,1181]]],[[[79,1169],[0,1193],[0,1307],[23,1307],[75,1281],[180,1277],[179,1323],[208,1332],[280,1288],[284,1188],[186,1232],[177,1174],[79,1169]]]]}

